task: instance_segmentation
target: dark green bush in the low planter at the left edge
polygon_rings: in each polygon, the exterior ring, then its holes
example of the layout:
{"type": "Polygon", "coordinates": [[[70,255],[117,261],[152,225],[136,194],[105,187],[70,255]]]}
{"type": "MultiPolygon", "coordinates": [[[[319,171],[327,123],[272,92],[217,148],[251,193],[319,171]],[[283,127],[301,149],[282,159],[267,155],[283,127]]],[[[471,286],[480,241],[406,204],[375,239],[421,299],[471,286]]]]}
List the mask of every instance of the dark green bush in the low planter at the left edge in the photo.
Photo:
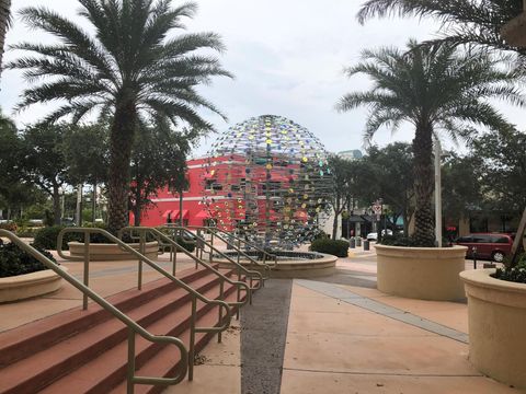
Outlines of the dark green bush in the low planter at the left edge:
{"type": "MultiPolygon", "coordinates": [[[[52,262],[57,263],[49,252],[38,247],[36,248],[52,262]]],[[[31,274],[44,269],[48,268],[33,256],[22,251],[14,243],[3,243],[0,240],[0,278],[31,274]]]]}

